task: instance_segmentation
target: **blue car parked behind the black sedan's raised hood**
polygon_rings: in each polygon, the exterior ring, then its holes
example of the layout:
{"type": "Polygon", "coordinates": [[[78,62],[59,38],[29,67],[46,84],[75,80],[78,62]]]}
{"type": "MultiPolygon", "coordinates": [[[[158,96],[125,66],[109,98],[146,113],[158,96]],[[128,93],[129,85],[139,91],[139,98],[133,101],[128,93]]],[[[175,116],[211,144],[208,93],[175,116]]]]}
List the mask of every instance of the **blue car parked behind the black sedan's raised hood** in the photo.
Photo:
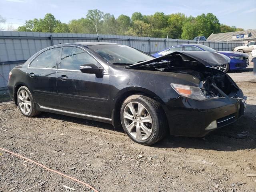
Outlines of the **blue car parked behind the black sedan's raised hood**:
{"type": "MultiPolygon", "coordinates": [[[[163,56],[170,54],[175,51],[210,51],[217,52],[216,50],[201,44],[184,44],[177,45],[173,47],[166,48],[160,52],[153,54],[154,57],[163,56]]],[[[218,53],[228,56],[230,58],[230,63],[222,66],[218,66],[218,69],[228,72],[228,70],[238,70],[246,68],[249,65],[249,56],[241,52],[232,51],[218,51],[218,53]]]]}

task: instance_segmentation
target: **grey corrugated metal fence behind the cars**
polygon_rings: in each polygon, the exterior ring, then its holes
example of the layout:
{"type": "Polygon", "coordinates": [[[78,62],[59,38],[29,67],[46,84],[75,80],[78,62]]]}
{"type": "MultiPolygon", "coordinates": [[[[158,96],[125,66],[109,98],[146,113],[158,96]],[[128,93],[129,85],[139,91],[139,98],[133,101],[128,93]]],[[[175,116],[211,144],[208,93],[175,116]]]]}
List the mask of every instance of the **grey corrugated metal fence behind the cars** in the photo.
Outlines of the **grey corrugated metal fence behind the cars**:
{"type": "MultiPolygon", "coordinates": [[[[0,31],[0,89],[7,86],[8,74],[14,66],[23,64],[30,56],[48,46],[71,42],[112,42],[128,45],[149,54],[167,47],[196,44],[192,40],[148,38],[120,35],[75,34],[75,33],[40,33],[0,31]]],[[[232,51],[242,43],[199,42],[218,51],[232,51]]]]}

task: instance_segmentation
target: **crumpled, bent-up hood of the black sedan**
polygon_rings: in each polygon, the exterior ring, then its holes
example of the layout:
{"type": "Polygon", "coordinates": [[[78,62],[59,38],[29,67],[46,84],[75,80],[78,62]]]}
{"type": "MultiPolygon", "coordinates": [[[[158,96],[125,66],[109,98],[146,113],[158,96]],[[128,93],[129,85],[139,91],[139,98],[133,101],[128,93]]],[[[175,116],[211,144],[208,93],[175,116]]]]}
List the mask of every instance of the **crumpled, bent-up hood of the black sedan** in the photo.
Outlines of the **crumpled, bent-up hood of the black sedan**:
{"type": "Polygon", "coordinates": [[[157,58],[152,58],[150,60],[132,64],[126,66],[125,68],[138,68],[139,66],[143,66],[150,63],[156,63],[164,60],[168,60],[172,57],[180,56],[184,61],[192,61],[192,62],[200,62],[204,66],[219,66],[223,64],[227,64],[230,62],[230,58],[223,54],[219,54],[217,52],[208,52],[208,51],[180,51],[180,52],[172,52],[170,54],[160,56],[157,58]]]}

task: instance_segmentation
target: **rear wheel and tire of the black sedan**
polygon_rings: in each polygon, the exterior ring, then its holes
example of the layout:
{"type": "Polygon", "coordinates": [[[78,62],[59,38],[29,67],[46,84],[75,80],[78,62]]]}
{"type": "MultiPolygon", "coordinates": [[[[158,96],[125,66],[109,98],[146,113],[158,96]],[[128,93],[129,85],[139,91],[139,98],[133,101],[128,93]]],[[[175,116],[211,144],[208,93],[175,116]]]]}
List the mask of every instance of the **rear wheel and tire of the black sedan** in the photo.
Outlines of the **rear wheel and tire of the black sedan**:
{"type": "Polygon", "coordinates": [[[40,111],[36,110],[36,105],[32,94],[26,86],[21,86],[17,91],[17,103],[20,112],[24,116],[33,117],[40,114],[40,111]]]}

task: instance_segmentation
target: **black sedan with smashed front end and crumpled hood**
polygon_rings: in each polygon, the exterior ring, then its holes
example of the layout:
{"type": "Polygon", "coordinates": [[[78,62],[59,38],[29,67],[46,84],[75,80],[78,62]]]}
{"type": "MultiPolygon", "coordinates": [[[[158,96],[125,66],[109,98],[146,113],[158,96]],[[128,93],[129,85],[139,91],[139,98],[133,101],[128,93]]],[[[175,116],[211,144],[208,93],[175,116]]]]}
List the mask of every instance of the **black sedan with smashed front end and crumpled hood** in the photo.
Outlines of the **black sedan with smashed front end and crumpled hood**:
{"type": "Polygon", "coordinates": [[[122,127],[144,145],[167,133],[204,136],[235,122],[246,97],[214,52],[154,58],[121,44],[81,42],[45,48],[9,74],[10,96],[28,117],[53,112],[122,127]]]}

